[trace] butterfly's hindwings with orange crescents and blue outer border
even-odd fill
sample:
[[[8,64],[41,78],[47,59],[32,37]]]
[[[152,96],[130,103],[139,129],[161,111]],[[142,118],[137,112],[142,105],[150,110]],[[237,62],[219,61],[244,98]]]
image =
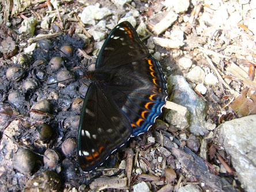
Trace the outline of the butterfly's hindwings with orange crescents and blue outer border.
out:
[[[132,136],[152,126],[168,96],[164,74],[151,55],[117,67],[105,89],[133,127]]]

